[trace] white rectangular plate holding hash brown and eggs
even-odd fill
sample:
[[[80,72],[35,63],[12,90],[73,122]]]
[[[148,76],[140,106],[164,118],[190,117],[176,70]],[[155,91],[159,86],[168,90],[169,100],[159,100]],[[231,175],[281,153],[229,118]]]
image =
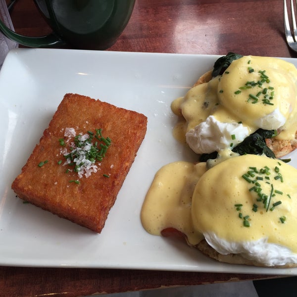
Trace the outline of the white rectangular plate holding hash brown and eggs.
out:
[[[172,137],[170,104],[218,56],[17,49],[0,71],[0,265],[297,275],[297,269],[229,265],[182,242],[149,235],[140,211],[155,172],[193,160]],[[287,59],[297,64],[295,59]],[[66,93],[148,116],[148,131],[101,234],[15,197],[10,186]],[[293,165],[297,158],[293,153]]]

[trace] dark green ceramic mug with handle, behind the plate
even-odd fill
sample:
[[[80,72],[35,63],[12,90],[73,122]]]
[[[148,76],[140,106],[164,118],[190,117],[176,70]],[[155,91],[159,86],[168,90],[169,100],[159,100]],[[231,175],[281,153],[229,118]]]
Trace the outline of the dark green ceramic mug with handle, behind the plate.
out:
[[[135,0],[34,0],[52,33],[43,37],[16,34],[0,21],[0,31],[32,48],[69,45],[76,49],[107,49],[125,29]]]

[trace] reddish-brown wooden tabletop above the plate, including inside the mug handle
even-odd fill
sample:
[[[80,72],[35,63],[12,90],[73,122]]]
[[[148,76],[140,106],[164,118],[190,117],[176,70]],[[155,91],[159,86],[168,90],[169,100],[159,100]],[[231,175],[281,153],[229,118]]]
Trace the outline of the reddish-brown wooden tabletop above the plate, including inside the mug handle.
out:
[[[20,34],[51,31],[32,0],[18,0],[11,17]],[[137,0],[109,50],[295,57],[283,27],[280,0]]]

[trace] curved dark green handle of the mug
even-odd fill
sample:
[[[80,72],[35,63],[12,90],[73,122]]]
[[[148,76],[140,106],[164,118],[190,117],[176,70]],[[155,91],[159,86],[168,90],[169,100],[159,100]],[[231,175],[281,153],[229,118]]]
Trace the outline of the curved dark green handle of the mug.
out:
[[[15,33],[5,26],[0,19],[0,31],[10,40],[26,47],[30,48],[52,48],[61,47],[65,45],[65,42],[60,39],[54,33],[50,33],[46,36],[41,37],[29,37]]]

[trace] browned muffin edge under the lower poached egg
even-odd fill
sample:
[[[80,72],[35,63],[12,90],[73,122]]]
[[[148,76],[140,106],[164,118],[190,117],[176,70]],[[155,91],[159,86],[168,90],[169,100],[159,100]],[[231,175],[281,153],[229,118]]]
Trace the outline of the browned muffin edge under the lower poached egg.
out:
[[[285,265],[278,265],[278,266],[265,266],[260,264],[256,261],[248,260],[241,256],[240,254],[227,254],[222,255],[218,253],[215,249],[210,247],[206,240],[202,240],[197,246],[195,246],[199,251],[201,251],[206,256],[215,259],[220,262],[229,263],[229,264],[244,264],[244,265],[253,265],[253,266],[260,266],[260,267],[270,267],[270,268],[293,268],[297,267],[296,263],[287,263]]]

